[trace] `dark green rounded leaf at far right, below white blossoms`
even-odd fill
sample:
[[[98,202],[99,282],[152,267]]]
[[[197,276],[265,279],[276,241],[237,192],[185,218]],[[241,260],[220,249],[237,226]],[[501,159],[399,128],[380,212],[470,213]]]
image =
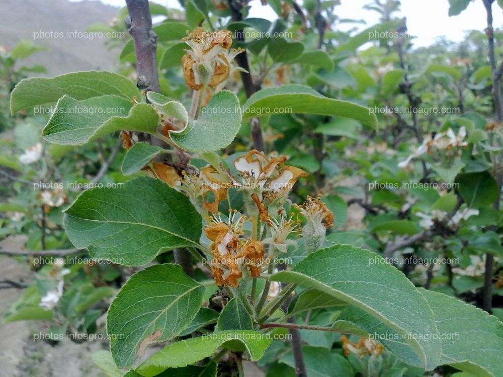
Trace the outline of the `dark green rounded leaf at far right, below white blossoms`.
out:
[[[488,206],[498,197],[498,185],[486,171],[458,174],[456,183],[459,195],[470,208]]]

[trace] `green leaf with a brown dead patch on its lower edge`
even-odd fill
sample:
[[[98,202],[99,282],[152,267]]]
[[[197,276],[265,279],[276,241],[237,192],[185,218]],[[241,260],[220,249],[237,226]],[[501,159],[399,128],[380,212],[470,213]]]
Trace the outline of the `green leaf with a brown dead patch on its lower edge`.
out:
[[[149,344],[177,336],[196,316],[203,293],[178,264],[156,264],[132,275],[107,314],[117,366],[130,366]]]

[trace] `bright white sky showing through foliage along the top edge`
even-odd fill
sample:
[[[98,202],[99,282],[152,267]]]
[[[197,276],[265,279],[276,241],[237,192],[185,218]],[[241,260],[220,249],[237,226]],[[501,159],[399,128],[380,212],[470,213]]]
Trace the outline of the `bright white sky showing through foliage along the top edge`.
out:
[[[71,0],[78,1],[78,0]],[[124,0],[100,0],[102,3],[122,7]],[[155,3],[171,8],[180,8],[178,0],[154,0]],[[300,1],[301,3],[301,1]],[[371,0],[342,0],[342,5],[336,7],[336,12],[341,18],[365,20],[366,26],[372,26],[378,22],[376,12],[365,11],[363,6],[371,3]],[[435,39],[445,35],[449,40],[460,41],[464,37],[465,30],[484,30],[485,9],[482,0],[474,0],[468,8],[459,16],[449,17],[448,0],[402,0],[400,16],[407,18],[408,34],[417,37],[414,40],[416,47],[429,46]],[[262,17],[274,20],[275,13],[269,6],[262,6],[260,0],[252,0],[250,3],[250,17]],[[492,6],[494,27],[503,24],[503,10],[496,3]],[[340,26],[340,30],[348,30],[356,24]]]

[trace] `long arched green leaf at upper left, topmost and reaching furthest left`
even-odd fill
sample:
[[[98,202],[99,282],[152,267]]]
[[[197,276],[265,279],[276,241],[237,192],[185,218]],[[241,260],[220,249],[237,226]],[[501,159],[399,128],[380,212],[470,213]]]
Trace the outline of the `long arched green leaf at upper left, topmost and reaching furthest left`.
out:
[[[52,78],[30,77],[21,80],[12,91],[11,113],[54,103],[64,95],[75,100],[112,95],[131,101],[140,93],[128,78],[106,71],[73,72]]]

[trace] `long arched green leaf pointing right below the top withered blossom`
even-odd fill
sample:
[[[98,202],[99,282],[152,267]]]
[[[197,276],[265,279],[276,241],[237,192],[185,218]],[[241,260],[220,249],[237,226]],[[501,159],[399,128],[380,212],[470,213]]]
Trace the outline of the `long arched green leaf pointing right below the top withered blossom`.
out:
[[[308,86],[296,84],[262,89],[255,93],[244,104],[243,121],[285,113],[340,116],[377,129],[377,118],[369,109],[351,102],[323,97]]]

